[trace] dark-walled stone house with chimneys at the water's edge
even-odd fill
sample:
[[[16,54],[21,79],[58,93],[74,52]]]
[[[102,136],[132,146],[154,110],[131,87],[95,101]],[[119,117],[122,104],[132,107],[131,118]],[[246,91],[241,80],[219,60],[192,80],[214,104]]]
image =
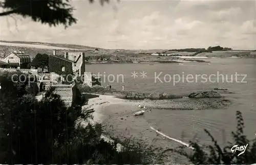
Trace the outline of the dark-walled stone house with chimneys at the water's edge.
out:
[[[94,85],[101,85],[99,77],[94,77],[92,72],[86,72],[86,59],[84,52],[61,53],[64,57],[59,56],[60,52],[57,53],[58,56],[56,55],[56,50],[53,50],[53,54],[48,55],[48,73],[38,73],[38,79],[41,79],[42,82],[44,81],[45,85],[56,83],[59,81],[56,80],[58,78],[61,78],[62,82],[68,80],[68,84],[72,82],[71,78],[77,78],[77,80],[80,79],[83,84],[87,84],[90,87]]]

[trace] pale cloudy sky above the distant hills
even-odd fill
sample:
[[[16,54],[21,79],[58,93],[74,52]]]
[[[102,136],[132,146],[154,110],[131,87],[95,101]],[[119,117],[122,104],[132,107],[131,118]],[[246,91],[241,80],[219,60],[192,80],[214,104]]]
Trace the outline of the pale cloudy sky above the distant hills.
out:
[[[0,40],[109,49],[256,49],[256,0],[110,1],[101,6],[73,0],[78,22],[66,30],[30,18],[0,17]]]

